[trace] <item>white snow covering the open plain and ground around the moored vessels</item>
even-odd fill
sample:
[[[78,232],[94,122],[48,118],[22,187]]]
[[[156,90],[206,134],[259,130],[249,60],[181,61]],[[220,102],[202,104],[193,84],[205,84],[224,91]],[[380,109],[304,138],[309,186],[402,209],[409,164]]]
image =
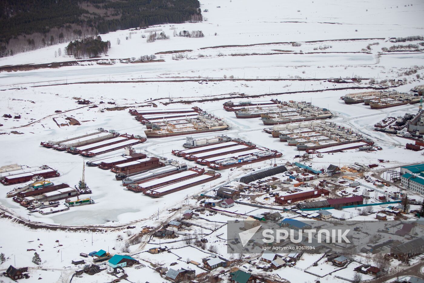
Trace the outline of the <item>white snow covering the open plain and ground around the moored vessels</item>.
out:
[[[382,47],[419,43],[393,43],[389,39],[423,35],[424,3],[422,1],[412,0],[410,3],[400,4],[394,0],[355,3],[311,0],[290,3],[271,0],[258,5],[257,1],[253,0],[232,0],[231,2],[206,0],[201,1],[201,8],[202,11],[209,10],[203,13],[207,21],[205,19],[201,23],[155,26],[131,34],[131,39],[128,40],[125,40],[129,34],[128,30],[101,35],[103,40],[111,41],[112,48],[107,55],[100,59],[137,58],[141,55],[163,51],[189,50],[184,52],[187,58],[173,60],[173,54],[157,54],[157,59],[163,59],[164,62],[124,63],[118,61],[106,65],[96,63],[91,65],[81,62],[74,66],[55,69],[1,72],[0,115],[11,114],[12,117],[21,115],[22,118],[0,118],[0,124],[3,124],[0,126],[0,133],[2,133],[0,135],[2,145],[0,147],[0,156],[2,157],[0,165],[18,163],[37,167],[47,164],[61,173],[60,177],[52,178],[51,181],[55,184],[66,183],[73,187],[81,178],[82,163],[90,158],[43,148],[39,145],[40,142],[98,127],[144,136],[145,126],[128,113],[128,108],[123,110],[107,110],[106,108],[115,106],[134,108],[134,106],[145,105],[148,102],[156,103],[158,108],[148,106],[142,109],[198,106],[225,119],[232,126],[230,130],[217,134],[226,134],[251,141],[257,146],[278,150],[283,153],[283,156],[275,161],[277,164],[294,161],[294,156],[298,154],[295,147],[289,147],[286,143],[279,142],[279,139],[273,139],[269,134],[264,133],[262,130],[267,126],[263,125],[260,119],[236,119],[234,113],[223,110],[223,102],[231,97],[243,95],[261,96],[254,98],[261,101],[272,98],[285,101],[304,100],[319,107],[329,108],[336,114],[331,119],[332,122],[351,127],[373,139],[383,148],[381,151],[374,152],[348,150],[345,153],[323,154],[323,158],[314,158],[310,161],[314,168],[321,169],[329,164],[343,166],[354,162],[372,164],[378,163],[378,159],[389,161],[380,165],[394,168],[423,160],[420,152],[404,149],[405,144],[410,140],[373,130],[373,125],[385,117],[404,115],[407,112],[416,113],[418,105],[372,110],[362,104],[346,105],[340,100],[340,96],[361,90],[329,90],[352,86],[370,87],[368,79],[376,79],[377,82],[385,79],[402,79],[404,81],[406,79],[407,84],[391,88],[398,91],[409,91],[416,85],[422,85],[421,77],[424,74],[422,52],[381,54]],[[175,27],[177,32],[202,30],[205,37],[173,37],[174,29],[170,29],[171,27]],[[170,39],[147,43],[145,39],[141,38],[141,34],[147,34],[145,31],[152,28],[162,29],[170,35]],[[121,40],[120,45],[117,45],[117,38]],[[339,41],[340,39],[361,40]],[[317,40],[322,41],[311,42]],[[300,42],[301,45],[293,46],[290,42]],[[361,52],[361,49],[374,42],[377,42],[378,45],[370,45],[371,50]],[[225,46],[208,48],[220,45]],[[324,49],[324,45],[329,46]],[[323,48],[322,50],[319,49],[320,46]],[[64,47],[64,44],[53,45],[13,57],[0,58],[0,65],[73,60],[67,56],[56,58],[53,56],[57,48]],[[416,73],[405,73],[411,69],[415,69]],[[417,77],[417,74],[420,75],[420,78]],[[360,83],[349,84],[335,84],[326,80],[352,76],[364,79]],[[208,79],[209,81],[207,81]],[[374,86],[378,86],[378,84]],[[89,99],[99,107],[89,108],[90,105],[78,105],[75,103],[75,98]],[[211,98],[225,99],[205,101]],[[232,100],[254,99],[235,98]],[[105,104],[100,104],[101,101]],[[116,105],[106,104],[106,102],[112,101]],[[187,101],[193,103],[187,104]],[[165,106],[162,103],[171,104]],[[61,110],[62,113],[55,113],[55,110]],[[58,127],[53,121],[53,118],[61,117],[63,119],[67,116],[77,119],[81,125]],[[213,134],[203,133],[193,136],[205,137],[213,136]],[[171,151],[181,149],[184,140],[185,136],[148,139],[147,142],[138,144],[134,148],[137,152],[145,152],[148,155],[155,154],[183,161],[183,158],[173,156]],[[97,160],[122,153],[123,150],[117,150],[91,159]],[[199,166],[193,161],[184,160],[184,162],[187,162],[189,166]],[[72,273],[78,268],[71,266],[70,261],[78,258],[80,252],[88,253],[92,250],[108,249],[112,253],[121,253],[124,241],[131,238],[126,233],[126,227],[135,226],[136,228],[131,229],[134,230],[134,233],[140,232],[144,226],[160,227],[162,223],[180,217],[180,207],[183,209],[197,207],[198,203],[191,198],[192,195],[207,192],[218,184],[268,166],[270,166],[270,161],[262,161],[253,164],[252,167],[222,170],[220,172],[222,177],[217,180],[174,192],[162,198],[150,198],[124,190],[120,181],[114,180],[114,173],[95,167],[86,167],[86,182],[93,192],[90,197],[96,203],[71,207],[68,211],[51,215],[29,213],[11,198],[6,198],[6,193],[14,186],[1,185],[1,209],[7,210],[16,217],[28,219],[33,223],[41,222],[50,225],[103,226],[105,231],[109,232],[94,232],[93,243],[90,243],[92,235],[89,231],[65,232],[30,229],[2,218],[0,227],[8,232],[0,233],[0,243],[2,243],[0,252],[5,253],[7,260],[0,265],[0,270],[7,269],[10,264],[15,265],[16,260],[16,266],[32,268],[31,279],[27,280],[28,282],[38,282],[39,277],[47,280],[46,282],[61,282],[63,277],[64,282],[69,282]],[[392,192],[396,188],[387,187],[385,190]],[[351,192],[351,190],[348,191]],[[371,197],[373,196],[371,195]],[[419,199],[421,196],[414,195],[414,197]],[[266,202],[264,201],[264,203]],[[239,204],[226,210],[252,215],[272,211]],[[338,216],[345,213],[346,217],[353,220],[375,218],[375,215],[361,216],[356,209],[347,209],[344,212],[333,210],[332,212],[340,214]],[[218,213],[201,216],[207,220],[198,219],[195,220],[195,223],[204,227],[202,232],[206,234],[205,238],[209,241],[208,246],[215,245],[218,254],[229,258],[226,241],[223,240],[226,239],[225,222],[236,219],[237,215]],[[119,227],[111,228],[113,226]],[[189,233],[201,233],[201,229],[196,226]],[[118,241],[118,235],[121,235],[124,241]],[[56,240],[59,240],[59,243],[56,243]],[[177,242],[170,243],[171,241]],[[157,246],[159,243],[157,238],[150,239],[147,244],[140,243],[129,247],[131,254],[134,254],[134,257],[146,265],[143,269],[126,269],[130,280],[143,276],[143,280],[149,282],[162,282],[164,279],[151,266],[147,266],[151,262],[162,263],[168,268],[170,263],[178,262],[176,268],[181,268],[187,267],[187,263],[185,263],[187,258],[201,262],[202,258],[209,255],[206,250],[201,252],[193,247],[182,247],[187,244],[182,241],[181,236],[176,240],[164,240],[162,243],[164,242],[167,242],[166,245],[172,251],[166,256],[163,254],[151,255],[145,252],[146,249]],[[43,245],[40,245],[41,243]],[[59,244],[63,246],[59,246]],[[31,263],[34,251],[27,251],[27,249],[35,249],[40,254],[42,269]],[[298,261],[297,266],[302,269],[307,268],[316,260],[315,258],[316,255],[305,255],[302,260]],[[333,275],[352,278],[355,264],[351,263],[352,267],[335,272]],[[196,273],[202,272],[193,264],[190,264],[189,267],[196,268]],[[321,275],[331,272],[334,268],[328,263],[320,262],[318,266],[308,270]],[[278,274],[290,282],[313,282],[317,279],[316,276],[294,268],[289,271],[287,268],[279,269],[273,274]],[[110,280],[108,276],[106,272],[102,272],[99,276],[84,275],[82,278],[74,278],[74,280],[105,282]],[[368,277],[363,277],[363,279],[368,279]],[[0,280],[4,280],[4,278],[2,277]],[[320,280],[344,282],[335,277],[325,277]],[[6,280],[6,282],[8,281]],[[132,280],[132,282],[137,282],[137,280]]]

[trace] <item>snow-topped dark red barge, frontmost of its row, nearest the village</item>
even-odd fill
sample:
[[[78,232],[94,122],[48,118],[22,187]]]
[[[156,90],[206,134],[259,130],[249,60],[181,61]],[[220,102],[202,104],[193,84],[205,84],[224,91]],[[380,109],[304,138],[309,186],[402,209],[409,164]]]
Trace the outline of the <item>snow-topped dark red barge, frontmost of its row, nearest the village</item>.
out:
[[[179,181],[173,184],[169,184],[163,187],[158,187],[153,190],[145,190],[143,194],[149,195],[151,197],[159,198],[164,195],[168,195],[173,192],[178,192],[190,187],[194,187],[200,184],[204,184],[206,182],[210,182],[212,180],[220,178],[220,173],[215,173],[215,171],[209,170],[207,173],[203,175],[195,176],[194,178],[189,178],[184,181]]]

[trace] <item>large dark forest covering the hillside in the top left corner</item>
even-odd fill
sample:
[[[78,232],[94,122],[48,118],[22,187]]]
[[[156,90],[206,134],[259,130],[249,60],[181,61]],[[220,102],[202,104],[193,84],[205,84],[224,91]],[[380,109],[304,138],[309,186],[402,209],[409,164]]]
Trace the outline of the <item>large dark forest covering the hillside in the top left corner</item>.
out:
[[[3,0],[0,57],[118,29],[201,20],[198,0]]]

